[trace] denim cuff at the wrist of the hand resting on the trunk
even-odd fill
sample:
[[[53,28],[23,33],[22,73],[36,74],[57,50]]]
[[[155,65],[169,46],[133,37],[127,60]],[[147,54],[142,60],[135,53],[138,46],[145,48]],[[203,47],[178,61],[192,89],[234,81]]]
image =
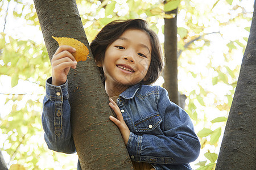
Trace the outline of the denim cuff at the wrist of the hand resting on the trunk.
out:
[[[130,136],[127,142],[127,150],[129,152],[131,160],[139,161],[142,147],[142,136],[130,132]]]

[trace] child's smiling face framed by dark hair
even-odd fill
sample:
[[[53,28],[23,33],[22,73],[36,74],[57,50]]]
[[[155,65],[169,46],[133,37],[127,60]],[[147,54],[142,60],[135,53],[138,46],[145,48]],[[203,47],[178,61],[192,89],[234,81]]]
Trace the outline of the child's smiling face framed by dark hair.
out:
[[[139,29],[127,29],[108,46],[102,66],[105,84],[131,86],[143,80],[151,61],[148,35]]]

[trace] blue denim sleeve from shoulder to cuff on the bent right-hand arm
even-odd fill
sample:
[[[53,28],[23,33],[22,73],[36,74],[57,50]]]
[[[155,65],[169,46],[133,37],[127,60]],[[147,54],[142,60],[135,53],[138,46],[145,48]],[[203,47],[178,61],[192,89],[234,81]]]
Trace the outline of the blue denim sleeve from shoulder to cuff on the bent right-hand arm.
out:
[[[156,107],[163,121],[162,134],[130,133],[127,150],[137,162],[156,164],[186,164],[197,159],[200,141],[188,114],[168,99],[167,91],[159,87]]]

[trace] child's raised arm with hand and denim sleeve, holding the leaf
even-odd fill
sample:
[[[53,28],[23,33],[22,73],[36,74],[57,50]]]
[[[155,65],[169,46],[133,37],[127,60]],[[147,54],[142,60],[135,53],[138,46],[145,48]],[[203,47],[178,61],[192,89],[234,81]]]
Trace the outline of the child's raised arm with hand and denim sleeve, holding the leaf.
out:
[[[52,78],[46,82],[42,124],[49,149],[71,154],[76,151],[71,131],[67,74],[75,69],[75,52],[71,46],[60,46],[52,57]]]

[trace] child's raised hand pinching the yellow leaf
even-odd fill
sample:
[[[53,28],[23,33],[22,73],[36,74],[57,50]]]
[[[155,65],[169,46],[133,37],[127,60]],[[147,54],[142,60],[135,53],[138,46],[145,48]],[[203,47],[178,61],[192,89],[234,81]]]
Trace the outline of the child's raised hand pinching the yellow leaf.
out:
[[[72,53],[76,49],[72,46],[61,45],[52,57],[52,85],[60,86],[67,80],[70,67],[76,69],[76,59]]]

